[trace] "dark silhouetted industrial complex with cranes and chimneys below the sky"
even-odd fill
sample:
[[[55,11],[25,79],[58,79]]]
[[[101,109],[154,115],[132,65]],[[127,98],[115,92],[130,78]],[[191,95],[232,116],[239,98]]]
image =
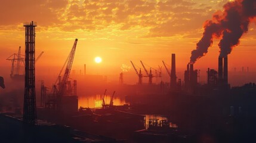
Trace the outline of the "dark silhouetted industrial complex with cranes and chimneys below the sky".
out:
[[[44,80],[35,85],[35,63],[43,53],[35,59],[36,26],[34,21],[24,23],[25,54],[19,48],[18,54],[7,58],[11,61],[11,79],[24,82],[24,99],[23,111],[21,107],[0,107],[1,142],[256,141],[255,83],[230,87],[227,55],[216,58],[218,70],[208,68],[205,84],[198,82],[200,70],[193,63],[186,65],[184,77],[177,77],[175,54],[171,54],[171,69],[162,61],[169,77],[167,83],[153,83],[153,78],[164,74],[161,66],[147,69],[140,61],[143,72],[131,61],[137,83],[125,84],[124,73],[120,73],[119,85],[103,86],[106,89],[100,92],[104,94],[95,103],[99,105],[89,107],[88,101],[87,106],[79,106],[79,82],[70,78],[78,39],[53,86],[46,86],[51,83]],[[84,64],[79,81],[106,82],[104,77],[87,75],[86,68]],[[3,77],[0,86],[4,90]],[[36,86],[40,95],[36,95]],[[90,93],[93,90],[87,89]],[[108,101],[107,92],[111,93]],[[116,96],[124,98],[125,104],[116,105]]]

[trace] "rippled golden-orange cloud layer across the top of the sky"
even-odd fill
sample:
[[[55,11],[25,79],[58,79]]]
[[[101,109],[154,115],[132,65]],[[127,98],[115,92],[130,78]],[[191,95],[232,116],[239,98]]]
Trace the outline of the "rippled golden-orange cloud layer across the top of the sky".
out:
[[[5,13],[0,13],[0,26],[34,20],[44,30],[57,27],[75,32],[109,26],[119,30],[146,27],[149,32],[145,37],[173,36],[201,29],[202,22],[212,14],[210,6],[184,0],[3,0],[0,9]]]

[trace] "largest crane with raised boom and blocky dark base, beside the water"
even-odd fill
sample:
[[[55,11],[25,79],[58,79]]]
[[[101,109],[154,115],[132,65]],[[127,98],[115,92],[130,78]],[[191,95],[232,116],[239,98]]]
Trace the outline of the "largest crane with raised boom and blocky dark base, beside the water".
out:
[[[73,85],[69,80],[70,71],[72,70],[72,64],[75,57],[76,44],[78,39],[75,39],[73,47],[67,57],[60,73],[58,74],[57,80],[51,89],[51,92],[47,94],[45,100],[45,108],[60,111],[61,113],[73,113],[78,108],[78,97],[77,97],[77,81],[73,80]],[[64,67],[66,66],[66,69]],[[63,77],[61,73],[64,70]],[[41,88],[41,90],[44,88]],[[44,91],[41,91],[44,93]]]

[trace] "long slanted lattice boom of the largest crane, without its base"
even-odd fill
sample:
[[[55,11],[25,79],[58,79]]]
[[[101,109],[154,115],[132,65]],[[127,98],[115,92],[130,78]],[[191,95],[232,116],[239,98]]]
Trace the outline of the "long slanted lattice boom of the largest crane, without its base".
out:
[[[69,79],[69,74],[70,74],[70,71],[71,71],[71,68],[72,68],[72,64],[73,64],[73,60],[74,60],[74,57],[75,57],[76,43],[77,42],[78,42],[78,39],[75,39],[74,45],[73,45],[73,47],[72,47],[72,49],[70,51],[70,54],[67,57],[67,60],[66,60],[66,62],[64,64],[64,66],[65,66],[66,63],[67,63],[66,69],[64,71],[63,78],[60,79],[59,80],[60,82],[58,83],[59,84],[58,92],[57,92],[57,103],[58,104],[60,104],[61,97],[63,97],[63,95],[64,95],[64,93],[66,91],[67,80]],[[61,71],[62,70],[63,69],[61,69]],[[61,74],[61,71],[60,71],[60,74]],[[59,74],[58,78],[60,77],[60,74]]]

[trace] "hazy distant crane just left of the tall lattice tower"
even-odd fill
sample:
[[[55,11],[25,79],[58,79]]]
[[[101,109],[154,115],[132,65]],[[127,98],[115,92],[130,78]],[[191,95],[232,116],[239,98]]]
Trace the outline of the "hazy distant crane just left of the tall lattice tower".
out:
[[[11,55],[6,60],[11,61],[11,79],[14,80],[24,80],[24,72],[22,72],[21,66],[24,66],[24,55],[20,54],[21,46],[18,47],[18,53]],[[22,57],[21,57],[22,56]],[[16,63],[16,65],[15,65]]]

